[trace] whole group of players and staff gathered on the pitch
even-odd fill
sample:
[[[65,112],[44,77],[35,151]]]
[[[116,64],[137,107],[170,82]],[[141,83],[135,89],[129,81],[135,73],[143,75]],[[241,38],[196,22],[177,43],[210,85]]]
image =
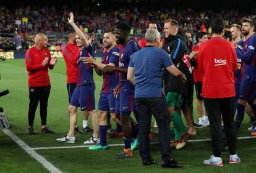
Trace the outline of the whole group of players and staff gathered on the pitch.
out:
[[[89,150],[108,149],[110,115],[116,122],[116,132],[122,132],[124,141],[124,150],[114,158],[132,157],[132,150],[140,142],[143,165],[155,164],[149,151],[153,114],[159,128],[155,134],[159,135],[161,166],[182,167],[171,158],[169,148],[183,148],[190,135],[196,134],[195,127],[204,126],[210,126],[213,145],[213,156],[203,161],[204,164],[223,166],[220,158],[223,147],[230,151],[229,163],[241,162],[236,153],[236,134],[244,119],[244,111],[250,116],[251,135],[256,135],[256,38],[252,20],[243,18],[242,26],[234,24],[230,31],[224,30],[223,20],[214,20],[212,38],[208,40],[207,33],[199,31],[195,47],[189,46],[189,31],[178,33],[179,23],[176,20],[164,22],[164,41],[156,23],[151,22],[145,38],[139,43],[130,39],[131,26],[119,21],[114,31],[104,33],[103,55],[98,62],[87,34],[75,25],[73,13],[69,15],[68,22],[72,28],[68,30],[69,43],[62,54],[67,66],[70,126],[68,134],[56,139],[58,142],[75,143],[77,108],[80,107],[82,131],[93,132],[92,137],[84,142],[92,145]],[[41,132],[53,133],[46,126],[51,88],[48,68],[52,70],[57,60],[51,58],[47,42],[45,34],[37,34],[35,46],[25,55],[30,92],[27,134],[30,135],[33,134],[39,101]],[[221,46],[225,47],[223,51]],[[98,113],[95,109],[93,70],[103,76]],[[198,123],[193,118],[194,86]],[[181,111],[188,128],[184,125]],[[132,112],[135,119],[130,117]],[[87,124],[89,115],[93,129]],[[171,121],[175,137],[170,142]],[[224,146],[221,145],[221,121],[224,124]]]

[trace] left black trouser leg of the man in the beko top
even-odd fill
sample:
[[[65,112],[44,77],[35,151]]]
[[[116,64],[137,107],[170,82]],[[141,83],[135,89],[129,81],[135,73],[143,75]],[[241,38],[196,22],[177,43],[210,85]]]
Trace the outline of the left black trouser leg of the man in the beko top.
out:
[[[221,156],[221,104],[219,99],[205,99],[208,118],[210,121],[211,145],[213,155]]]

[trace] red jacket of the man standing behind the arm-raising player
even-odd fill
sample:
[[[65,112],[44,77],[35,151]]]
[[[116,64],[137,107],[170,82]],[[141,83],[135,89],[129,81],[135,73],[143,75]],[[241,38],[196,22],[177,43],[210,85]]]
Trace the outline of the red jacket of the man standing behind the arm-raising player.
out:
[[[77,52],[79,52],[79,47],[71,43],[67,44],[62,50],[62,55],[66,62],[67,84],[77,82]]]

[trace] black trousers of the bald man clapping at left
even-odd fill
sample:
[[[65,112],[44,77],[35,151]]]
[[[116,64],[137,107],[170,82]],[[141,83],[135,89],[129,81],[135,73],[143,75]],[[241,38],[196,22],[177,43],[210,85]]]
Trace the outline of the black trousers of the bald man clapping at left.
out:
[[[41,87],[29,87],[29,109],[28,109],[28,124],[33,126],[35,119],[35,111],[40,101],[40,117],[41,125],[46,125],[47,118],[47,106],[48,98],[51,90],[51,86],[41,86]]]

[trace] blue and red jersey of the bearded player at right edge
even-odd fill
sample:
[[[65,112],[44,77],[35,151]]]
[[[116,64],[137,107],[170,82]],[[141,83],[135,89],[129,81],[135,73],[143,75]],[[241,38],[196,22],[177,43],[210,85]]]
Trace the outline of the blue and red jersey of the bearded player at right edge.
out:
[[[244,41],[242,49],[242,80],[256,81],[256,36]]]

